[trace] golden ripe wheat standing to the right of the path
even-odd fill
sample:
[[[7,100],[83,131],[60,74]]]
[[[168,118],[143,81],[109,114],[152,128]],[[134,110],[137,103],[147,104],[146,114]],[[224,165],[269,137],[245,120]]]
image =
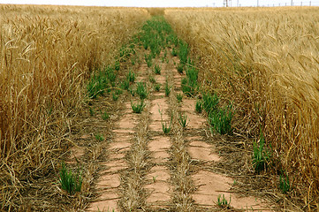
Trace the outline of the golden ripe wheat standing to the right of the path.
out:
[[[279,162],[277,169],[294,179],[308,207],[319,202],[318,11],[165,11],[199,58],[203,84],[235,103],[237,131],[258,136],[262,130]]]

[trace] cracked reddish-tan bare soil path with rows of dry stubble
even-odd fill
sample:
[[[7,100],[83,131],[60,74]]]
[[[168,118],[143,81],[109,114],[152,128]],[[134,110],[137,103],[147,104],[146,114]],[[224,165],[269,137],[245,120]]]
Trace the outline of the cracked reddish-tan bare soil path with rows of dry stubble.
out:
[[[211,169],[223,163],[223,157],[216,153],[215,138],[205,117],[194,110],[195,99],[183,95],[183,101],[177,101],[176,95],[183,94],[180,82],[184,77],[174,66],[178,58],[169,57],[169,63],[159,59],[155,62],[162,68],[161,75],[155,75],[147,64],[134,70],[137,81],[146,82],[148,87],[141,114],[133,113],[131,97],[126,94],[114,108],[118,117],[111,117],[104,126],[109,127],[107,139],[90,149],[72,148],[72,155],[77,158],[99,153],[95,154],[98,159],[92,161],[97,172],[91,181],[97,197],[86,210],[271,211],[266,201],[232,193],[234,179]],[[149,76],[161,84],[159,92],[148,81]],[[171,87],[169,96],[163,89],[166,81]],[[178,124],[178,114],[186,114],[186,128]],[[170,133],[163,133],[162,123],[171,123]],[[103,123],[91,125],[99,125],[103,131]],[[81,139],[85,142],[90,136],[83,134]],[[231,197],[232,208],[217,206],[220,194],[226,200]]]

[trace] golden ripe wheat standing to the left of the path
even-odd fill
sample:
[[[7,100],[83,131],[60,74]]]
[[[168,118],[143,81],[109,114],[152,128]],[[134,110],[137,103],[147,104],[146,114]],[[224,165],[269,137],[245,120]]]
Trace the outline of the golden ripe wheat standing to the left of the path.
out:
[[[0,5],[0,208],[15,208],[70,141],[85,81],[112,64],[144,9]],[[84,88],[83,88],[84,87]]]

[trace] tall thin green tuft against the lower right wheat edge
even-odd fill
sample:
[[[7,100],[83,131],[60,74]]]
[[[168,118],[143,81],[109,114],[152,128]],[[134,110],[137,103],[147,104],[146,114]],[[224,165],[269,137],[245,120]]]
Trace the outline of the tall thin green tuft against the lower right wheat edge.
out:
[[[259,145],[254,142],[253,166],[257,173],[266,170],[270,163],[270,152],[265,148],[265,138],[260,133]]]

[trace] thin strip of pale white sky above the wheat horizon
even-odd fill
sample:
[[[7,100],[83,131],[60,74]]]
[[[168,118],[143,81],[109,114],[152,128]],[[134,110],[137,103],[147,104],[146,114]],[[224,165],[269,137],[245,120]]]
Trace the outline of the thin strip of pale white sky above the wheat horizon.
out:
[[[138,7],[220,7],[224,0],[0,0],[0,4],[60,4],[85,6],[138,6]],[[281,6],[284,5],[319,6],[319,0],[232,0],[232,6]]]

